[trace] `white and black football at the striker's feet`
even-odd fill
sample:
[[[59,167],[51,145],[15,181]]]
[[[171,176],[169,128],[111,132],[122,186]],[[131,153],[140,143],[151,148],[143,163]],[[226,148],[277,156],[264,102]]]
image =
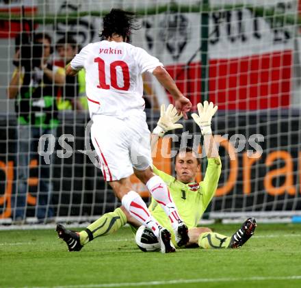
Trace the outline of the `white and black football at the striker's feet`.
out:
[[[145,226],[140,226],[135,235],[135,241],[137,246],[143,252],[154,252],[160,250],[160,244],[150,229],[146,228]]]

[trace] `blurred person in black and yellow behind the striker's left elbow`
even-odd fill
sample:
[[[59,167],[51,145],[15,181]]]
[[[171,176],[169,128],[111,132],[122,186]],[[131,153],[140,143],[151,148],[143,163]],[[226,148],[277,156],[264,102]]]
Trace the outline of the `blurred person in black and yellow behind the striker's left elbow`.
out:
[[[74,38],[68,36],[57,41],[55,50],[60,58],[55,60],[54,64],[65,67],[78,53],[79,45]],[[85,77],[84,69],[77,74],[77,77],[66,76],[66,84],[57,99],[59,110],[88,109]]]

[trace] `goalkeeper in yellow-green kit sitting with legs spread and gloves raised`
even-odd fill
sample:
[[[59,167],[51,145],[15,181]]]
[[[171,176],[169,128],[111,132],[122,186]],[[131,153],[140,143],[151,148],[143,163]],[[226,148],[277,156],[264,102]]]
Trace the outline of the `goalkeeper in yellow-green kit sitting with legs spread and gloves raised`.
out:
[[[200,127],[204,137],[203,148],[208,160],[204,181],[200,183],[195,181],[196,173],[200,171],[200,159],[192,148],[181,149],[176,154],[176,177],[170,176],[153,166],[153,172],[159,175],[168,185],[170,195],[176,204],[181,219],[189,229],[189,242],[185,245],[186,247],[199,246],[205,249],[239,248],[253,235],[257,226],[254,218],[248,218],[231,237],[213,233],[209,228],[197,227],[198,221],[218,187],[222,168],[218,147],[215,144],[211,131],[211,118],[217,109],[218,107],[214,107],[213,103],[209,104],[205,101],[204,105],[198,103],[198,114],[192,114],[192,118]],[[176,124],[180,118],[181,115],[177,114],[176,109],[172,105],[169,105],[166,111],[165,107],[161,106],[161,116],[152,135],[152,148],[157,143],[158,137],[162,137],[167,131],[183,127],[181,124]],[[172,234],[172,241],[176,245],[170,219],[153,198],[149,210],[160,225],[168,228]],[[133,219],[125,208],[119,207],[114,212],[104,214],[79,233],[70,231],[62,226],[66,235],[64,241],[68,245],[69,251],[79,251],[94,238],[109,235],[126,223],[131,224],[135,228],[140,226],[140,223]]]

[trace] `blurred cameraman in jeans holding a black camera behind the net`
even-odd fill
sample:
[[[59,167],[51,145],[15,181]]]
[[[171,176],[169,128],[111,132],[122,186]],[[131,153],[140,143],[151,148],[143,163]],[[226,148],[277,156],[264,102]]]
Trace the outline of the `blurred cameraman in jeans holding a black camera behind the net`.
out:
[[[23,224],[26,220],[27,180],[31,157],[39,159],[36,217],[39,222],[48,222],[53,217],[51,162],[50,165],[44,163],[44,159],[38,156],[34,147],[37,147],[41,135],[56,134],[59,124],[56,95],[59,86],[65,82],[64,69],[48,63],[53,50],[51,37],[48,34],[35,34],[33,45],[25,44],[21,38],[24,37],[16,39],[16,69],[8,87],[8,98],[16,98],[18,118],[16,191],[12,203],[12,207],[15,208],[13,221],[18,224]],[[32,51],[32,57],[28,58],[29,51]]]

